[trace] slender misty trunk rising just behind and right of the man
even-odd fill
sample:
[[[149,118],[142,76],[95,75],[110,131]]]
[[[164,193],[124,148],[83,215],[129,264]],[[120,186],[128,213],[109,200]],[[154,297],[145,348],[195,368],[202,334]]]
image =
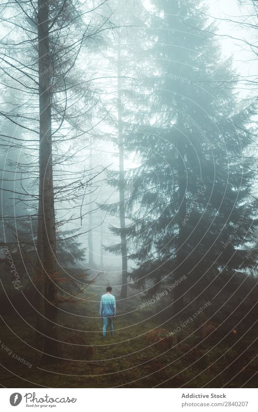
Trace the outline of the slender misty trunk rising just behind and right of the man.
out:
[[[124,212],[124,165],[123,165],[123,130],[122,130],[122,102],[121,102],[121,42],[118,38],[118,138],[119,138],[119,204],[120,204],[120,228],[121,228],[121,255],[122,255],[122,286],[121,295],[123,299],[127,297],[127,244],[125,232],[125,212]]]

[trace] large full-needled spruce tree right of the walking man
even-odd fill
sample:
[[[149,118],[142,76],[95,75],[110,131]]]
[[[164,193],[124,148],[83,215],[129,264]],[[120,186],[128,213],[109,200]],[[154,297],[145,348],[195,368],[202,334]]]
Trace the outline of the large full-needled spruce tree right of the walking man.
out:
[[[251,109],[225,86],[233,72],[203,3],[152,5],[145,53],[152,74],[142,80],[151,108],[127,141],[141,160],[127,238],[138,264],[133,278],[147,296],[186,277],[173,289],[181,316],[186,296],[206,299],[234,269],[254,264],[244,250],[255,230],[245,156]]]

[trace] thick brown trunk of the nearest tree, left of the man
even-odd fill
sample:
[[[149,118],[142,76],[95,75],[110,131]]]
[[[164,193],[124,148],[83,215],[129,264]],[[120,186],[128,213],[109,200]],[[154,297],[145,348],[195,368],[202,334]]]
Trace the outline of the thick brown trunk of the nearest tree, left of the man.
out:
[[[45,338],[44,360],[59,356],[57,342],[56,228],[53,191],[51,130],[51,59],[49,54],[49,11],[45,0],[38,0],[38,57],[40,149],[39,178],[42,200],[43,265],[45,272]]]

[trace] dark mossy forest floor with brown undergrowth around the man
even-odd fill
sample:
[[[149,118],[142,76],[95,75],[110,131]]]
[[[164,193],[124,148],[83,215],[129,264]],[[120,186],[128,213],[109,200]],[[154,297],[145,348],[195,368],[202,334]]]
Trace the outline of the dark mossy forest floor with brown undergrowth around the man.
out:
[[[34,349],[34,316],[24,308],[23,312],[14,311],[11,306],[8,309],[6,303],[0,318],[0,385],[7,388],[257,387],[257,314],[252,310],[236,330],[230,318],[223,326],[207,322],[209,336],[203,337],[199,320],[185,326],[185,318],[164,323],[169,313],[167,316],[156,306],[160,303],[138,310],[141,302],[136,297],[125,302],[118,301],[115,334],[108,333],[106,339],[101,336],[102,319],[98,317],[97,302],[61,305],[62,327],[58,338],[67,343],[60,344],[60,359],[54,358],[48,364],[41,363],[41,353]],[[252,303],[249,302],[250,307]],[[166,338],[166,331],[177,327],[180,331]]]

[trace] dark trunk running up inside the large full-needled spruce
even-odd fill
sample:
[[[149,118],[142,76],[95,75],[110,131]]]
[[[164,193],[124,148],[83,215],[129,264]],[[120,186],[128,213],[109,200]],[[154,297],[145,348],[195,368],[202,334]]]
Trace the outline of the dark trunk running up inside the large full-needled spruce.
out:
[[[176,254],[176,270],[174,272],[174,280],[178,280],[182,275],[184,275],[183,271],[185,268],[184,260],[185,260],[185,227],[183,226],[183,220],[186,215],[186,170],[184,165],[184,156],[185,156],[185,141],[184,137],[181,133],[183,128],[182,122],[182,102],[178,103],[178,121],[177,121],[177,128],[178,128],[178,139],[177,139],[177,150],[178,150],[178,194],[179,194],[179,233],[178,233],[178,242],[177,242],[177,254]],[[174,303],[173,303],[173,312],[178,314],[178,316],[182,315],[180,313],[184,308],[184,291],[185,291],[185,284],[184,282],[179,283],[174,289]]]

